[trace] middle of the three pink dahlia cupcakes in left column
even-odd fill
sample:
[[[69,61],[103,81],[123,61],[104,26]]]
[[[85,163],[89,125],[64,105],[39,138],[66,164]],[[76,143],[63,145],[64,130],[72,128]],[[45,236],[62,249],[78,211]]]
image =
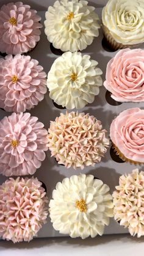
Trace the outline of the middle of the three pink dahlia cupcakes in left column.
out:
[[[24,112],[43,100],[46,73],[30,56],[8,55],[0,59],[0,86],[0,108]]]

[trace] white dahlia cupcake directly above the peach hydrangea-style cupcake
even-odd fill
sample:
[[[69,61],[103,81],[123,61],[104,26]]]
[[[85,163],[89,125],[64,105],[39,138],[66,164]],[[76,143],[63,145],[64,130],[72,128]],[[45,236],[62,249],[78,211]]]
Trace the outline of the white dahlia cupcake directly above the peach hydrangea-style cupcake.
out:
[[[103,85],[103,72],[98,62],[89,55],[63,53],[58,57],[48,73],[49,97],[67,109],[81,109],[95,100],[99,86]]]

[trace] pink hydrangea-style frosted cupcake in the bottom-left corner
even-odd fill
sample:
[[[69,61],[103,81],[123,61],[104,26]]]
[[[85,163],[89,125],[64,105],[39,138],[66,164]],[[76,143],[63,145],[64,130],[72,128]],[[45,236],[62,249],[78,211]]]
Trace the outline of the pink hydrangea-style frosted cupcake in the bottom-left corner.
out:
[[[31,241],[48,216],[48,197],[37,178],[9,178],[0,186],[0,237]]]

